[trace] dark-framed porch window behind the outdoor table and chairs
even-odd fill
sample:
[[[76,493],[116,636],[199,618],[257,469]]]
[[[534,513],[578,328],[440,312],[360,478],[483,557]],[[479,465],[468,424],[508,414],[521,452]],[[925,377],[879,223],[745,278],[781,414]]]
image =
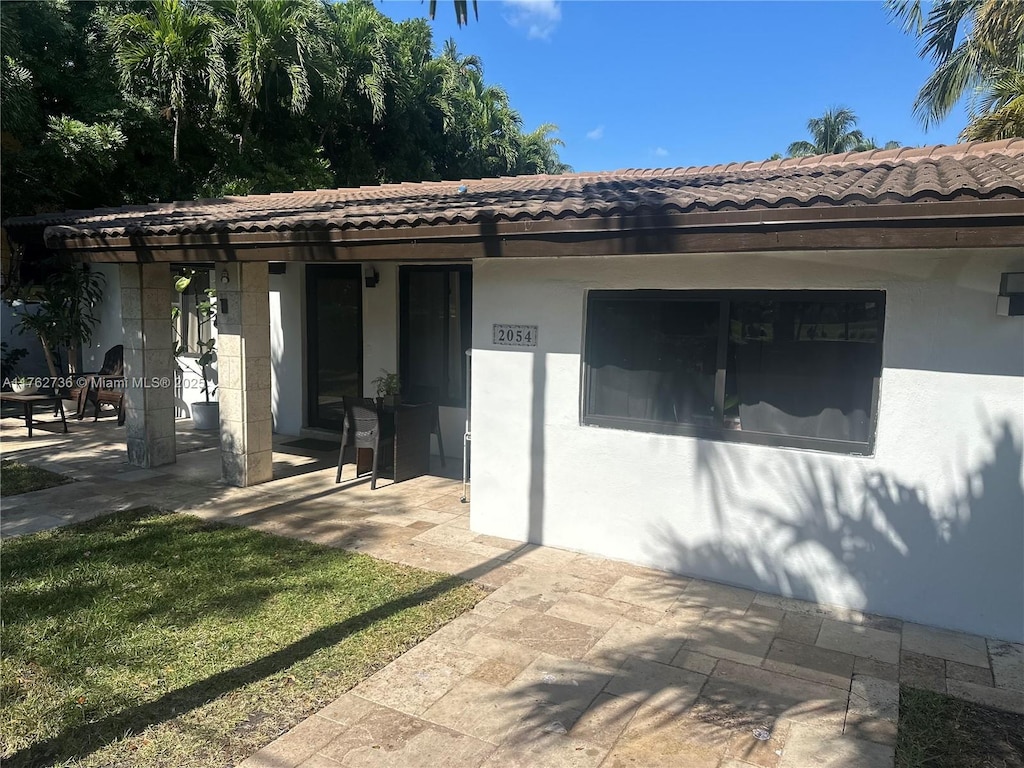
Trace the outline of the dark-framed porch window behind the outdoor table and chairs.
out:
[[[402,399],[466,406],[466,350],[473,323],[471,266],[399,268]]]

